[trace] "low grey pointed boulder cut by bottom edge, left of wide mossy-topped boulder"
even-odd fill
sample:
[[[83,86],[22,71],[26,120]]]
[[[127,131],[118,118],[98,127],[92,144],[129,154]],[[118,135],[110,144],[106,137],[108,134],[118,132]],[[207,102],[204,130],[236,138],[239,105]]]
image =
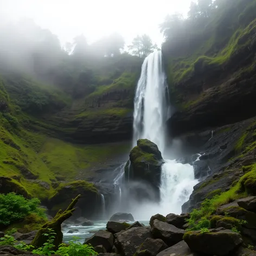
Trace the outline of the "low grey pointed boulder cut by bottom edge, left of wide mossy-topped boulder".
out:
[[[190,251],[188,245],[184,241],[178,242],[162,252],[158,253],[157,256],[199,256],[197,253]]]

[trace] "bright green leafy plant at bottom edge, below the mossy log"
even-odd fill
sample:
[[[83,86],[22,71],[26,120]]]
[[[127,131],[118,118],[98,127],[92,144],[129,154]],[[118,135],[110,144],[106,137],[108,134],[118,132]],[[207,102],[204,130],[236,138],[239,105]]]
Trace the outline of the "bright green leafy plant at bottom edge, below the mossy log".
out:
[[[93,256],[97,255],[94,248],[91,245],[83,245],[78,242],[78,237],[74,236],[73,240],[69,242],[69,245],[61,244],[56,254],[61,256]]]

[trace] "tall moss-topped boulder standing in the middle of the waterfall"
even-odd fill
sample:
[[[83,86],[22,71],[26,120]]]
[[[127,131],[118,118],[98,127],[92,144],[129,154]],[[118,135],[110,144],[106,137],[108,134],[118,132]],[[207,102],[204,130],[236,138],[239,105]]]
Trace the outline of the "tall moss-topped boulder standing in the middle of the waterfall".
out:
[[[138,181],[150,184],[159,196],[161,166],[164,163],[162,154],[155,143],[148,139],[139,139],[137,146],[130,152],[130,163],[125,168],[126,181]],[[134,191],[134,190],[133,190]],[[137,191],[146,196],[143,191]]]

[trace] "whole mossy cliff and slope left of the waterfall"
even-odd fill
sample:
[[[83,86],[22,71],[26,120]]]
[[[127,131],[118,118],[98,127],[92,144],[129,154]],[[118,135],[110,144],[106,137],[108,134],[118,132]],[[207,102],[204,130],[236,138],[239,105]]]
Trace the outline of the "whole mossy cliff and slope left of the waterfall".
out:
[[[115,61],[105,63],[108,70],[103,67],[93,92],[81,92],[80,98],[26,74],[1,71],[0,193],[39,197],[53,212],[80,193],[82,211],[91,204],[88,198],[95,203],[85,215],[97,211],[98,189],[85,180],[94,181],[99,175],[94,169],[107,169],[107,162],[130,150],[141,60],[125,55]],[[111,76],[116,65],[120,71]]]

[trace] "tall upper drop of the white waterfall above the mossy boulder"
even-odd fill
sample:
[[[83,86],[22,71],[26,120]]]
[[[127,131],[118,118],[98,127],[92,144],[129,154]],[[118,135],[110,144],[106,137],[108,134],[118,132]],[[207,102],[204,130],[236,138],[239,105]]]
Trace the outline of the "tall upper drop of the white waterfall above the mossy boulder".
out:
[[[162,67],[162,53],[150,54],[143,62],[133,112],[133,146],[140,138],[165,149],[165,121],[168,114],[167,84]]]

